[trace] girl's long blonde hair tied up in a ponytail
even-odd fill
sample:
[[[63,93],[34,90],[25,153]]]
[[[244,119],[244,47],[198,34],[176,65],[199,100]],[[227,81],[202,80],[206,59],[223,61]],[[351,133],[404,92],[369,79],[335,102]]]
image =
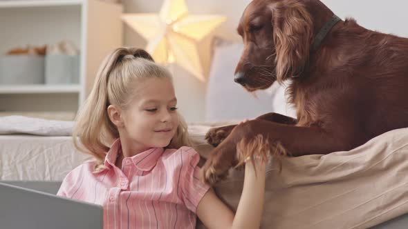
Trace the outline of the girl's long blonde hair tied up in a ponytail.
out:
[[[165,67],[154,63],[151,55],[142,49],[117,48],[102,62],[91,94],[75,118],[73,131],[75,148],[98,161],[95,170],[104,167],[109,146],[119,138],[118,128],[109,119],[108,106],[112,104],[127,109],[133,99],[135,79],[148,77],[171,79],[171,74]],[[178,120],[176,134],[167,147],[192,146],[187,124],[180,115]]]

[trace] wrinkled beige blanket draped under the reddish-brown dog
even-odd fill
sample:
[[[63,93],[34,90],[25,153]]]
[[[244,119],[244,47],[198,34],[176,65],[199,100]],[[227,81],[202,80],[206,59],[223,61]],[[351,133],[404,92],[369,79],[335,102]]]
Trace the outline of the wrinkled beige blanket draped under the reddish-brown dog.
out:
[[[201,147],[206,157],[210,148]],[[242,172],[231,170],[216,186],[232,208],[242,178]],[[347,152],[286,159],[281,173],[276,163],[268,166],[262,228],[369,228],[407,212],[408,128]]]

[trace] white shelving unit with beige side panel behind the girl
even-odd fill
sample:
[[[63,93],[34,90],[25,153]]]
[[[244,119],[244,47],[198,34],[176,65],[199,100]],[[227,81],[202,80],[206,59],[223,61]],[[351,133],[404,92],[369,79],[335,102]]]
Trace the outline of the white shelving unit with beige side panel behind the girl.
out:
[[[0,110],[75,114],[106,54],[122,46],[122,12],[122,4],[100,0],[0,0],[0,55],[60,41],[72,41],[80,51],[79,83],[0,84]]]

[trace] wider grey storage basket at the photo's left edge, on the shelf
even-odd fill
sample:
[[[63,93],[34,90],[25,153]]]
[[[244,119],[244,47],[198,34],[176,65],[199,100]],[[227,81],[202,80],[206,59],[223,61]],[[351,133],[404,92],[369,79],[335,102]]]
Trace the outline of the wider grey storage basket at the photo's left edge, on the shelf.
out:
[[[0,84],[43,84],[44,57],[8,55],[0,57]]]

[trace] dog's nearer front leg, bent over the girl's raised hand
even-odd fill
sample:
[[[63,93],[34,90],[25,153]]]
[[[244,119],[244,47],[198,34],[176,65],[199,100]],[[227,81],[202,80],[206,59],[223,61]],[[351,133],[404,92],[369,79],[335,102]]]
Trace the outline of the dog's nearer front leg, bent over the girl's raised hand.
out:
[[[338,130],[338,128],[337,131],[343,134],[346,132],[346,130]],[[271,147],[268,152],[279,154],[280,152],[275,152],[276,148],[279,148],[285,151],[281,154],[294,157],[312,154],[326,155],[355,147],[355,143],[350,141],[353,139],[353,135],[350,134],[350,138],[344,138],[348,135],[337,137],[336,133],[317,126],[302,127],[260,119],[248,121],[235,127],[231,134],[211,152],[209,159],[203,166],[203,180],[214,184],[227,175],[230,168],[237,165],[237,143],[242,139],[250,140],[257,135],[262,135],[264,139],[268,139]]]

